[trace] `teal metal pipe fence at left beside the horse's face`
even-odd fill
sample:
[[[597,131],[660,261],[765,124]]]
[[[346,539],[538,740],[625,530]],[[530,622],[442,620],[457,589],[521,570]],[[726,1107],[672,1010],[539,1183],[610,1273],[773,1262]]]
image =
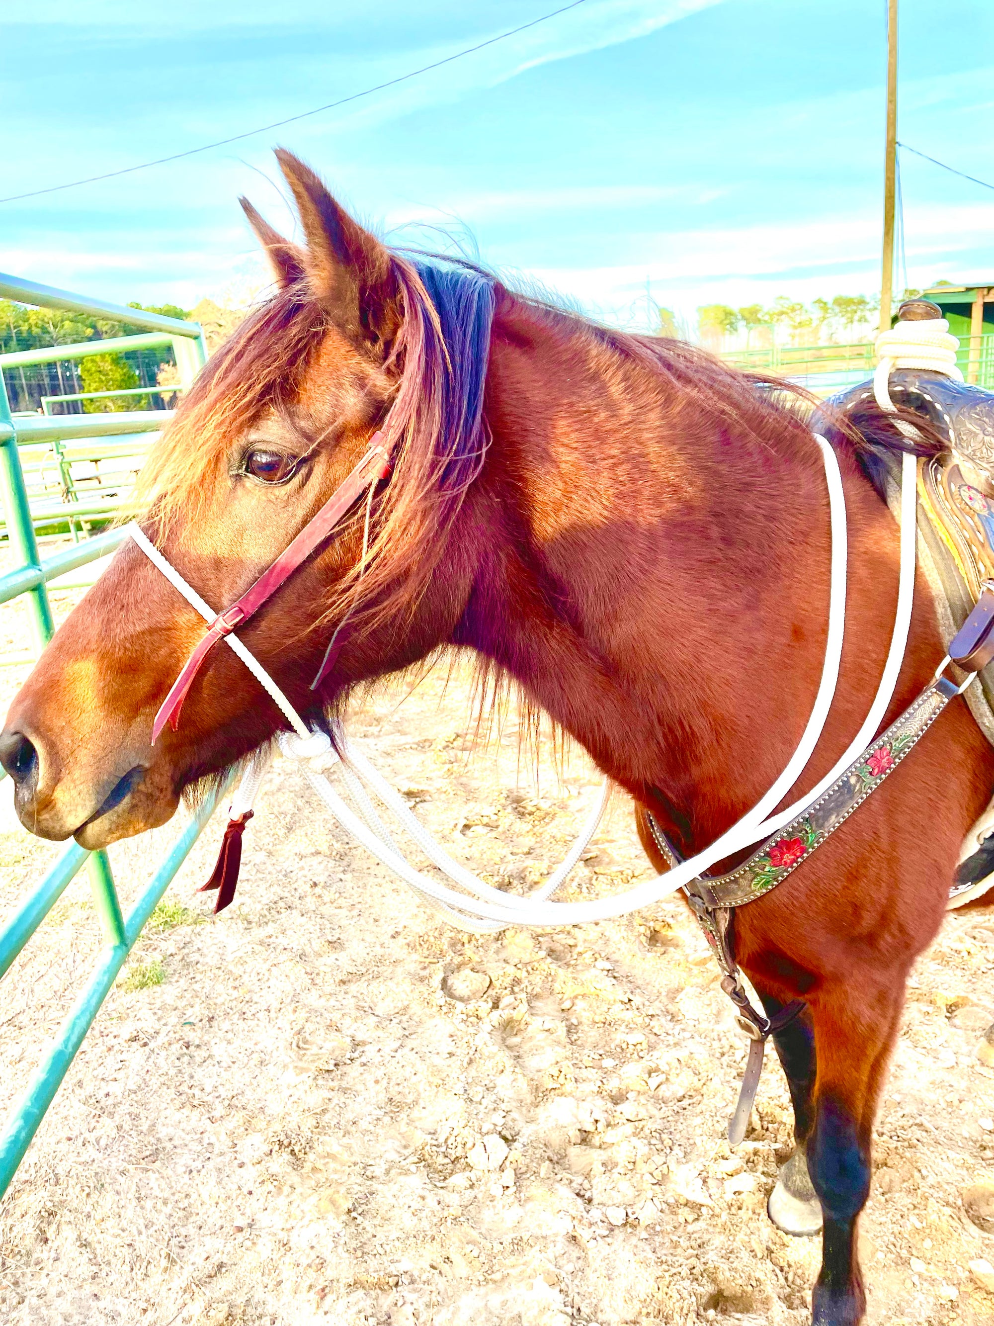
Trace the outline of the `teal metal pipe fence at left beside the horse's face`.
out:
[[[101,354],[107,353],[109,347],[127,349],[134,346],[135,342],[148,342],[151,339],[155,345],[168,343],[174,347],[182,381],[188,383],[204,362],[205,351],[200,328],[192,322],[180,322],[175,318],[160,317],[159,314],[142,313],[137,309],[86,300],[82,296],[53,290],[30,281],[17,281],[8,276],[0,276],[0,296],[17,300],[23,304],[69,309],[91,316],[97,314],[103,318],[117,318],[133,326],[144,326],[148,329],[148,334],[134,337],[103,339],[76,346],[42,347],[41,350],[29,350],[13,355],[0,355],[0,497],[3,497],[3,533],[5,536],[5,542],[0,542],[0,549],[7,549],[8,554],[13,554],[13,565],[7,569],[5,574],[0,575],[0,605],[9,603],[15,598],[27,597],[32,642],[34,646],[33,652],[40,652],[53,631],[48,583],[57,577],[64,577],[66,573],[95,562],[98,558],[111,553],[123,536],[121,530],[110,529],[95,537],[72,544],[68,548],[61,548],[58,552],[42,558],[38,552],[36,526],[38,524],[44,525],[46,520],[50,522],[53,512],[42,509],[40,517],[38,504],[30,500],[29,484],[25,480],[21,456],[33,456],[38,448],[44,447],[61,447],[61,459],[57,451],[53,452],[56,456],[53,463],[58,469],[60,464],[72,465],[74,463],[72,447],[76,446],[80,456],[83,453],[87,456],[97,455],[99,461],[101,447],[107,448],[107,455],[110,455],[114,447],[121,452],[125,439],[133,444],[138,439],[139,450],[144,447],[148,434],[158,432],[162,427],[164,415],[160,410],[150,410],[61,415],[54,418],[27,414],[13,416],[4,385],[3,367],[9,367],[12,362],[16,363],[19,359],[23,361],[24,355],[32,355],[33,359],[30,362],[45,362],[45,357],[50,362],[52,359],[66,357],[68,351],[72,355]],[[97,450],[94,451],[94,448]],[[41,487],[44,497],[44,484]],[[37,496],[37,483],[34,488]],[[78,492],[74,496],[74,501],[64,501],[62,505],[73,507],[77,517],[82,516],[85,509],[90,508],[95,509],[103,518],[111,514],[113,500],[103,501],[103,504],[95,501],[87,508],[83,496]],[[32,509],[33,505],[36,507],[34,511]],[[44,501],[40,500],[40,505],[44,507]],[[11,558],[8,557],[8,560]],[[9,794],[9,782],[4,790]],[[170,882],[209,819],[216,800],[216,796],[209,797],[200,808],[197,815],[183,829],[127,916],[122,912],[107,854],[105,851],[90,853],[77,843],[72,843],[20,907],[15,910],[13,915],[8,918],[3,928],[0,928],[0,979],[3,979],[24,945],[58,902],[70,880],[86,866],[90,875],[94,907],[106,943],[89,981],[76,1000],[76,1004],[69,1009],[60,1032],[44,1050],[21,1099],[0,1131],[0,1196],[7,1191],[17,1166],[21,1163],[30,1144],[30,1139],[34,1136],[45,1111],[58,1091],[69,1065],[73,1062],[76,1052],[80,1049],[101,1004],[114,984],[114,979],[131,952],[144,923],[151,916],[156,903],[166,892]]]

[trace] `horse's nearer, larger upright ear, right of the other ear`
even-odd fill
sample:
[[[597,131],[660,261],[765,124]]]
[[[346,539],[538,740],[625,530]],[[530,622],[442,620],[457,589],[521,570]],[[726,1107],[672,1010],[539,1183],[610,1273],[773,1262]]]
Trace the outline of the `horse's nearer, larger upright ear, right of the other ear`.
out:
[[[309,166],[281,147],[276,158],[297,200],[314,297],[357,345],[388,342],[399,312],[387,248],[353,220]]]

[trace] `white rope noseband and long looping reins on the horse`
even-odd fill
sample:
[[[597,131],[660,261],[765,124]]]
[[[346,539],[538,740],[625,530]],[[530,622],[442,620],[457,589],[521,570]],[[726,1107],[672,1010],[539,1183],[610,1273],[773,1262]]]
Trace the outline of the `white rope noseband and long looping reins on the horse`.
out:
[[[626,892],[592,902],[551,900],[596,831],[607,804],[607,781],[600,792],[598,805],[584,823],[580,835],[567,853],[566,859],[546,883],[526,896],[505,892],[488,884],[467,870],[465,866],[453,861],[445,849],[431,837],[403,797],[391,788],[386,778],[374,769],[366,756],[350,741],[343,740],[341,743],[342,757],[339,758],[327,733],[309,729],[269,672],[249,652],[237,635],[225,635],[224,642],[235,651],[285,715],[292,731],[278,733],[280,749],[285,756],[300,764],[307,782],[342,829],[362,843],[379,862],[392,870],[419,898],[441,912],[452,924],[463,930],[482,932],[500,931],[506,926],[550,927],[624,916],[628,912],[649,907],[669,894],[676,892],[677,888],[708,870],[709,866],[713,866],[742,847],[762,842],[795,815],[801,814],[869,745],[891,703],[897,684],[897,674],[904,659],[914,591],[916,468],[914,456],[909,455],[904,456],[901,469],[901,554],[897,610],[891,647],[877,693],[869,707],[865,721],[828,773],[793,805],[775,815],[770,814],[797,782],[822,736],[835,695],[846,634],[846,572],[848,554],[846,496],[839,463],[831,446],[818,434],[815,434],[815,442],[822,451],[828,483],[831,593],[828,605],[828,638],[826,642],[822,679],[804,732],[794,754],[770,790],[737,823],[710,843],[709,847],[705,847],[704,851],[697,853],[664,874],[636,884]],[[212,622],[216,617],[215,611],[208,607],[196,590],[162,556],[158,548],[150,542],[138,525],[129,525],[127,532],[142,552],[204,621]],[[232,800],[232,814],[240,814],[250,809],[265,770],[266,760],[268,752],[257,752],[250,758],[241,785]],[[326,770],[333,766],[341,774],[355,809],[329,782]],[[440,883],[433,876],[411,865],[380,819],[366,785],[379,802],[391,812],[428,861],[448,876],[453,884],[459,886],[459,891]]]

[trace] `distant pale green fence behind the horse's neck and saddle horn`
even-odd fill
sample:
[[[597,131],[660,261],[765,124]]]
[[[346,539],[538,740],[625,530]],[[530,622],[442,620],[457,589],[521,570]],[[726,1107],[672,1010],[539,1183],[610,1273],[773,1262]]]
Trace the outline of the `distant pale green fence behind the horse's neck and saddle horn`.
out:
[[[728,350],[722,359],[747,373],[775,373],[823,395],[872,378],[876,366],[872,341]],[[994,390],[994,335],[961,337],[956,362],[966,382]]]

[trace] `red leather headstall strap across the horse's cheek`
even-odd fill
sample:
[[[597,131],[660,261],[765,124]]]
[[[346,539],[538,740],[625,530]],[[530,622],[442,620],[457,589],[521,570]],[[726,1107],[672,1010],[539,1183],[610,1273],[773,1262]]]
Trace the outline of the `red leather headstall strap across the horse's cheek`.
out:
[[[293,542],[262,572],[256,583],[250,589],[247,589],[240,599],[232,603],[231,607],[225,607],[211,622],[207,635],[204,635],[183,664],[183,671],[172,683],[170,693],[162,701],[162,708],[155,715],[152,743],[158,740],[159,733],[167,723],[174,732],[179,727],[179,711],[183,708],[187,692],[215,644],[223,640],[225,635],[231,635],[232,631],[237,630],[239,626],[243,626],[257,613],[280,589],[288,575],[292,575],[329,538],[335,525],[339,524],[342,517],[347,514],[349,509],[362,497],[370,485],[378,483],[380,479],[386,479],[391,468],[390,456],[383,447],[383,434],[375,432],[366,455],[349,477],[331,493],[321,511],[307,521]]]

